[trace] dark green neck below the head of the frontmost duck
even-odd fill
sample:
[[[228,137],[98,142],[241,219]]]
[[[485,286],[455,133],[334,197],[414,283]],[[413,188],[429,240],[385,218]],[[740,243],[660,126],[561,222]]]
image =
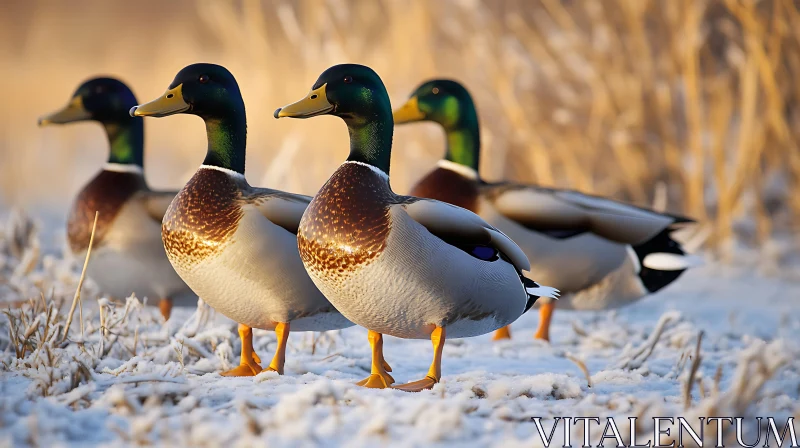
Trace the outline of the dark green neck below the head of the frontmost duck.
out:
[[[389,175],[389,162],[392,158],[392,133],[394,121],[391,107],[386,107],[371,120],[345,120],[350,133],[351,162],[368,163]]]

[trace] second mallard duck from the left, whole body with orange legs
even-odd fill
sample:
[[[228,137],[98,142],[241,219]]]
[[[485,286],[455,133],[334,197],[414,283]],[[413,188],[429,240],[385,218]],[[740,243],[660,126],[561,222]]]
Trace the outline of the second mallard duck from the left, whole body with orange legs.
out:
[[[162,236],[181,278],[211,307],[239,323],[240,363],[223,375],[252,376],[262,370],[252,328],[275,331],[278,346],[267,370],[283,374],[290,329],[353,325],[314,286],[300,261],[297,228],[311,198],[252,187],[244,177],[244,101],[226,68],[189,65],[164,95],[130,113],[184,113],[205,121],[206,158],[167,209]]]

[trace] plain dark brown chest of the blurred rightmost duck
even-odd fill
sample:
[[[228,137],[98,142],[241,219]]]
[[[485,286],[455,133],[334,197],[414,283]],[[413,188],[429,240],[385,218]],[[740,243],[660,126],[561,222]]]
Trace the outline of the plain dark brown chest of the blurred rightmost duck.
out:
[[[448,169],[436,168],[431,171],[417,182],[410,194],[478,212],[478,182]]]

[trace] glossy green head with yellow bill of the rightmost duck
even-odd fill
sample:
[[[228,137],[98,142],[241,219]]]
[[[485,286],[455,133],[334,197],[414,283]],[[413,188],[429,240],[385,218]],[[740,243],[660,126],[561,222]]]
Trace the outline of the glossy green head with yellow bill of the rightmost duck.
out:
[[[417,87],[406,104],[394,112],[395,124],[415,121],[440,124],[447,136],[445,159],[478,171],[478,113],[464,86],[448,79],[434,79]]]

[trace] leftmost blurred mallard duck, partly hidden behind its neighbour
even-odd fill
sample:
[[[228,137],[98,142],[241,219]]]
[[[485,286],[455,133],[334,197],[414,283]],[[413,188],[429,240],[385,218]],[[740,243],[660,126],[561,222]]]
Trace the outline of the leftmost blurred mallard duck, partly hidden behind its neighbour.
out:
[[[66,107],[39,119],[39,125],[97,121],[110,149],[108,162],[81,190],[67,219],[70,251],[84,257],[95,211],[99,212],[87,275],[103,293],[118,298],[136,293],[159,298],[169,319],[172,298],[189,292],[172,269],[161,244],[161,218],[174,191],[153,191],[144,179],[144,128],[128,110],[136,97],[113,78],[90,79],[78,87]]]

